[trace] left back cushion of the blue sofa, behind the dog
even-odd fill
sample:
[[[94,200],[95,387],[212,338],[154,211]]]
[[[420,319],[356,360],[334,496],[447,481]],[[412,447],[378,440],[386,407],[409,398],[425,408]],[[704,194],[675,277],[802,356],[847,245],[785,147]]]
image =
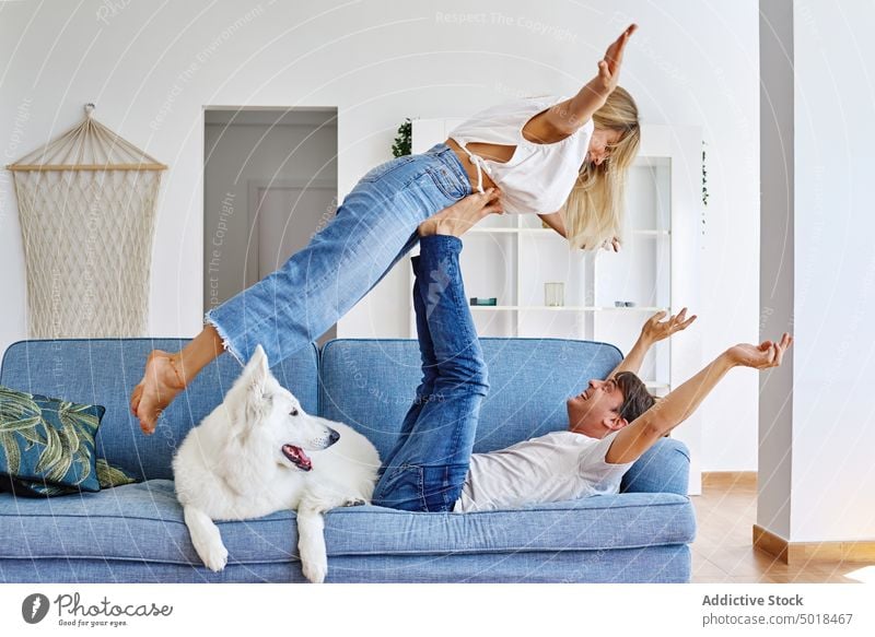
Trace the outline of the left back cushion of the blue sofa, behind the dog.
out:
[[[144,436],[129,400],[143,376],[149,352],[175,352],[187,339],[63,339],[20,341],[9,346],[0,385],[73,402],[102,404],[106,414],[97,432],[97,455],[143,479],[173,477],[171,460],[188,430],[219,403],[242,370],[230,355],[220,356],[173,401],[155,433]],[[279,381],[317,410],[315,345],[275,365]]]

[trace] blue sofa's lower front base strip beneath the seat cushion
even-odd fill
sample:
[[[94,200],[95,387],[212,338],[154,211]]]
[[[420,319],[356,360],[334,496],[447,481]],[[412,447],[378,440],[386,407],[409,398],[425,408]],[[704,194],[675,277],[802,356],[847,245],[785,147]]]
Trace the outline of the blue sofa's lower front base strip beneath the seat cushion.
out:
[[[447,555],[340,555],[328,559],[329,582],[349,583],[680,583],[690,578],[687,544],[617,548]],[[66,559],[0,559],[0,582],[233,583],[305,582],[298,562],[231,563],[221,573],[187,564]],[[330,593],[330,591],[328,591]]]

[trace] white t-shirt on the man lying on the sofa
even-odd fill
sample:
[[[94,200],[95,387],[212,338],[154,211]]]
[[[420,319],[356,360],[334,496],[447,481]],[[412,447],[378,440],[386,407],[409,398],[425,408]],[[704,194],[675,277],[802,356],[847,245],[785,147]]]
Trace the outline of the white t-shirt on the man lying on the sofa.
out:
[[[617,433],[598,439],[553,432],[499,451],[474,453],[453,511],[512,509],[618,493],[633,463],[605,462]]]

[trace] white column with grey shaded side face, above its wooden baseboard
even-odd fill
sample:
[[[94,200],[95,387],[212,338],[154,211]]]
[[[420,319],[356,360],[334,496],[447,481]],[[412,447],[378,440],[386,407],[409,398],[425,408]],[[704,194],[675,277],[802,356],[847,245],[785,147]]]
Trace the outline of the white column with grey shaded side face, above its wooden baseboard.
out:
[[[757,523],[790,543],[875,540],[875,5],[760,2]]]

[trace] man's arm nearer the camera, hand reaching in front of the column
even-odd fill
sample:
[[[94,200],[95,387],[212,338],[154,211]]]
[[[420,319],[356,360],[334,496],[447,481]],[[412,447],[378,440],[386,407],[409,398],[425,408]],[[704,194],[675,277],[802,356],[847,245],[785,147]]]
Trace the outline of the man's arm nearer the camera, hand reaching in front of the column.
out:
[[[609,464],[623,464],[638,460],[656,440],[686,421],[730,369],[778,367],[792,343],[793,337],[785,333],[778,343],[766,341],[759,346],[742,344],[730,347],[704,369],[620,429],[605,461]]]

